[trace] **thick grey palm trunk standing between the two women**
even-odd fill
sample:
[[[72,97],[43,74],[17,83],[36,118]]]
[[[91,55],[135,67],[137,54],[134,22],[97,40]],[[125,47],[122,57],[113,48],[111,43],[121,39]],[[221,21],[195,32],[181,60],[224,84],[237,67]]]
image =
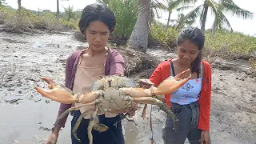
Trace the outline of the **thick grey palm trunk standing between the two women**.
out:
[[[150,1],[151,0],[138,1],[138,18],[128,42],[128,47],[144,52],[147,50],[148,45]]]

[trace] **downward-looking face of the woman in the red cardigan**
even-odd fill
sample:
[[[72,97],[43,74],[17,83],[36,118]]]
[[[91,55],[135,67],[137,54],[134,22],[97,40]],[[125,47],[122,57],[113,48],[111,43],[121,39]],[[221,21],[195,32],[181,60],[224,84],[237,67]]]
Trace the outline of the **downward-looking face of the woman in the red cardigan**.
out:
[[[183,64],[191,64],[197,58],[199,52],[198,46],[189,40],[185,40],[178,46],[178,58]]]

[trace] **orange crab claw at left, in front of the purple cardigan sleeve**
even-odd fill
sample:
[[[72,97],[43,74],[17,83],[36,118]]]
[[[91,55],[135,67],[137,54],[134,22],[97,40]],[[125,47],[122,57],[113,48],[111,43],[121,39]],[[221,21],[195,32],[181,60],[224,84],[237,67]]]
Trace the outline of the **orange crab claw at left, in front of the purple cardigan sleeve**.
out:
[[[35,86],[35,89],[38,90],[38,93],[42,94],[43,97],[65,104],[78,102],[78,99],[74,98],[72,91],[65,86],[56,85],[56,83],[50,78],[42,77],[41,79],[48,83],[48,87],[50,89],[42,90],[42,88]]]

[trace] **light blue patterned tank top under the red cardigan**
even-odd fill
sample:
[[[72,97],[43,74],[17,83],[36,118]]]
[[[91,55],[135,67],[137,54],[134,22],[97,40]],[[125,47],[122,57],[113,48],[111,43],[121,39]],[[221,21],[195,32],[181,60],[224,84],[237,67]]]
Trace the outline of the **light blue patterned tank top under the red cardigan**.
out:
[[[178,103],[179,105],[187,105],[191,102],[196,102],[199,99],[202,90],[202,63],[201,63],[201,78],[190,79],[178,90],[171,93],[170,102]],[[173,63],[170,61],[170,73],[175,76]]]

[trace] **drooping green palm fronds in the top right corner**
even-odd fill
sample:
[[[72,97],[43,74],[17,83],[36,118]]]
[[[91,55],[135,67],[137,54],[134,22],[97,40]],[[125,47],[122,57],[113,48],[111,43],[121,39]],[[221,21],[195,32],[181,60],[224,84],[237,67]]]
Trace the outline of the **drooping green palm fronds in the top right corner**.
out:
[[[196,2],[197,0],[194,0]],[[186,15],[186,18],[193,19],[200,18],[201,22],[201,30],[205,32],[206,26],[206,16],[208,14],[208,10],[212,10],[215,15],[215,20],[213,24],[213,30],[217,30],[218,28],[226,25],[231,28],[230,22],[226,18],[225,12],[231,13],[238,18],[253,18],[254,14],[250,11],[243,10],[239,6],[237,6],[233,0],[219,0],[219,2],[214,2],[214,0],[204,0],[202,5],[199,5],[191,10],[189,14]]]

